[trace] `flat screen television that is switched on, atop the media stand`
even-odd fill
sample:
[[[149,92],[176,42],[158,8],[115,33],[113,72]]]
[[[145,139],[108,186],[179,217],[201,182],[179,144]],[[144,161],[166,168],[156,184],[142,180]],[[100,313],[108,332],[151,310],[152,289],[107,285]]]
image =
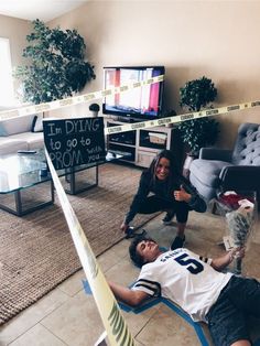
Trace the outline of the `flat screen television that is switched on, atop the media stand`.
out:
[[[104,88],[147,80],[164,73],[164,66],[104,67]],[[163,82],[159,82],[106,96],[102,100],[102,113],[132,120],[151,120],[162,116],[162,102]]]

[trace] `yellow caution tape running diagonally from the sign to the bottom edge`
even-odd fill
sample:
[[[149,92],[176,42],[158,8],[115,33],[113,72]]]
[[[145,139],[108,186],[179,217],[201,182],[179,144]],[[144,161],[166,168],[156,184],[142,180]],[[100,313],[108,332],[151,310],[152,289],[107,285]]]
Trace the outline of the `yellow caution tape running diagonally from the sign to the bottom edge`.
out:
[[[77,216],[68,202],[67,195],[63,190],[46,149],[45,154],[64,216],[66,218],[88,283],[93,291],[94,299],[98,306],[98,311],[106,328],[109,343],[111,346],[134,346],[134,340],[121,315],[118,303],[115,300],[105,275],[98,266],[98,262],[77,219]]]

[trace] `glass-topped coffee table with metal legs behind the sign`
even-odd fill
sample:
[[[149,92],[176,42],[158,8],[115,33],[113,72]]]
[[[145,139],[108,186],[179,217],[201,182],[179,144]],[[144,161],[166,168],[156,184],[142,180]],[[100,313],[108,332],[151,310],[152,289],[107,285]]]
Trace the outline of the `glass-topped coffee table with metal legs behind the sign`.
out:
[[[57,171],[68,194],[98,185],[98,166],[124,156],[108,152],[100,162]],[[0,208],[23,216],[54,203],[54,186],[44,150],[0,155]]]

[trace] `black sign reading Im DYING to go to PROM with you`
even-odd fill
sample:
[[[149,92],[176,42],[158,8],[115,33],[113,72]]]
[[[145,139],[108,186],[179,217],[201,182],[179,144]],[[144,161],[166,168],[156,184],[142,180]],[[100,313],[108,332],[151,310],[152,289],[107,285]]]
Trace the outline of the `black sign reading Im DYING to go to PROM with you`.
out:
[[[102,118],[44,120],[44,143],[56,170],[105,160]]]

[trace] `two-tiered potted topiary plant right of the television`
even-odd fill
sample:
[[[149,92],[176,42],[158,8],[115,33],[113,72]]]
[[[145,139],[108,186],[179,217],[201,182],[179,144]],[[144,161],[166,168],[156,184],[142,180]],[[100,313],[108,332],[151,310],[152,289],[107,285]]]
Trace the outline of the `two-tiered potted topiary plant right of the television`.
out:
[[[217,88],[212,79],[203,76],[187,82],[180,89],[180,105],[188,111],[199,111],[202,108],[213,108]],[[218,121],[213,118],[201,118],[183,121],[178,125],[181,138],[188,145],[189,152],[184,163],[184,175],[188,175],[189,164],[198,156],[199,149],[216,143],[219,129]]]

